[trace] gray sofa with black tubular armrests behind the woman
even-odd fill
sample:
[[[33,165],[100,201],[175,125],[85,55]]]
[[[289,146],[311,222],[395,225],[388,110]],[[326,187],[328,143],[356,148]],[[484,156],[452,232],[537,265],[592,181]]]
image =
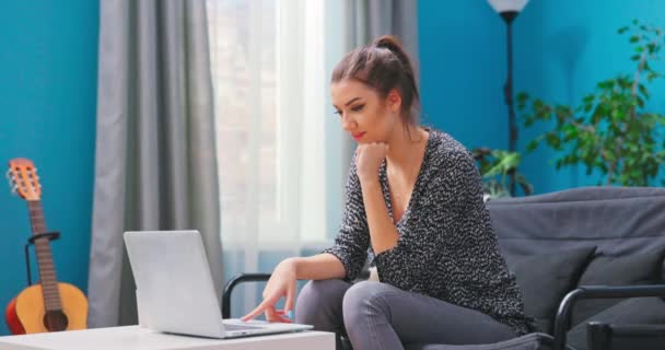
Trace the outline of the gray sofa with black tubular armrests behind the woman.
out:
[[[586,187],[487,206],[538,331],[492,345],[408,349],[665,349],[665,188]],[[224,315],[237,283],[267,278],[230,281]]]

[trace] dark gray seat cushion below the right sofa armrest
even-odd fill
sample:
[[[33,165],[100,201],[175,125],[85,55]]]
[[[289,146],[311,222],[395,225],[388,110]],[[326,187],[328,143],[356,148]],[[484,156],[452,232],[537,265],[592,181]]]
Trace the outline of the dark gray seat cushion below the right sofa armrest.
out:
[[[586,324],[603,322],[615,325],[665,325],[665,302],[658,298],[639,298],[625,300],[598,314],[593,315],[571,329],[568,343],[578,350],[586,349]],[[634,339],[633,339],[634,341]],[[615,349],[612,343],[612,349]],[[619,348],[617,348],[619,349]],[[634,343],[631,348],[635,349]]]

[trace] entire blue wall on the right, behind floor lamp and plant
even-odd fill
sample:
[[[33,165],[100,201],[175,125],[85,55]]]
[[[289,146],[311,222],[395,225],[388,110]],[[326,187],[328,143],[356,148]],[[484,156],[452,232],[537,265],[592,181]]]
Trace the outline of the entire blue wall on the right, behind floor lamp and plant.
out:
[[[505,149],[504,24],[487,1],[452,4],[419,1],[423,112],[468,148]],[[616,34],[632,19],[665,28],[665,1],[532,0],[514,22],[515,92],[576,105],[597,81],[633,71],[627,37]],[[650,106],[665,113],[663,82],[654,89]],[[518,150],[541,130],[522,128]],[[584,168],[557,172],[553,159],[547,148],[525,155],[521,171],[536,192],[597,183]]]

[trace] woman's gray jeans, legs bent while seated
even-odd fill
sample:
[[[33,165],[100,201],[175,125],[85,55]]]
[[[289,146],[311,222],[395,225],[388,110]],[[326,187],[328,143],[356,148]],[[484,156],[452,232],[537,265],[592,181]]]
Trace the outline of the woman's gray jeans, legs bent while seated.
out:
[[[295,304],[295,322],[348,336],[354,350],[418,348],[424,343],[492,343],[515,332],[492,317],[387,283],[310,281]]]

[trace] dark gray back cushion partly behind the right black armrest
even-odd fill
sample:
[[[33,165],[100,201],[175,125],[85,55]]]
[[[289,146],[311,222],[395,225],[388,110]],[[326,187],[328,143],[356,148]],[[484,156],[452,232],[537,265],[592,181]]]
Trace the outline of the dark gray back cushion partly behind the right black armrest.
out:
[[[626,256],[598,255],[588,264],[579,285],[629,285],[661,282],[665,246],[660,245],[642,254]],[[621,302],[621,299],[581,300],[572,313],[572,325]]]

